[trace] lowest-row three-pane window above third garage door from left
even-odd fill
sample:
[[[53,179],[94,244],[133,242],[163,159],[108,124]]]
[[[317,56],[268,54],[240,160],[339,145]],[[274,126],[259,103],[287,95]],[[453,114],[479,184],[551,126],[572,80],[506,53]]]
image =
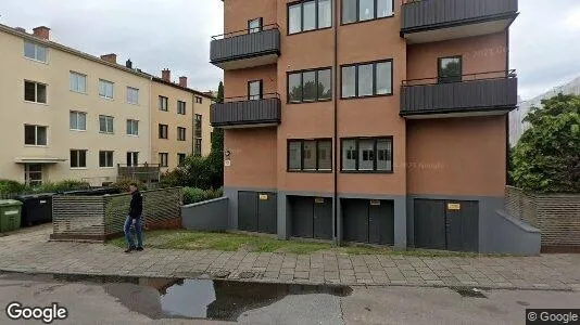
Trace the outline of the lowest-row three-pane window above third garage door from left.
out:
[[[392,138],[342,139],[342,170],[392,172]]]

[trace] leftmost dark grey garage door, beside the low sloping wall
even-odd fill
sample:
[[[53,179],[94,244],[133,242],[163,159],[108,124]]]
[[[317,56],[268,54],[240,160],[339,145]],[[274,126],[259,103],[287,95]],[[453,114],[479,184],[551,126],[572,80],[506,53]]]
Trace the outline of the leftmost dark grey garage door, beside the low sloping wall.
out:
[[[238,229],[276,234],[276,193],[238,192]]]

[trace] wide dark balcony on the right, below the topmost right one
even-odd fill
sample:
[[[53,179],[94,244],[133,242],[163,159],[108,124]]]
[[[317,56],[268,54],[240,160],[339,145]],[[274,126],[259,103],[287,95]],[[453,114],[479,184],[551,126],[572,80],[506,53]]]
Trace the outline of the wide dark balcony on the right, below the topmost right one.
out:
[[[483,116],[502,115],[516,108],[515,70],[463,75],[455,82],[440,81],[438,78],[403,81],[400,115],[407,119]]]

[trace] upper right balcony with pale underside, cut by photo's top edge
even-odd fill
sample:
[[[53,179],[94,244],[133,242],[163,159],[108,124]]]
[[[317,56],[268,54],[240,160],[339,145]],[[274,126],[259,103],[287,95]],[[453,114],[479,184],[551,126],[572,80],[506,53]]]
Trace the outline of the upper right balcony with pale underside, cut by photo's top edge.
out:
[[[401,37],[436,42],[505,30],[518,15],[518,0],[406,0]]]

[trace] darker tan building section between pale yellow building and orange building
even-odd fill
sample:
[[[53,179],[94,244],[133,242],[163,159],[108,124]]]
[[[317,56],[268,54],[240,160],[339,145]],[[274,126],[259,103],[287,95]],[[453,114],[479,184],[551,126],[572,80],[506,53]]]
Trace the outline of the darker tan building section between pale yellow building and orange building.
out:
[[[169,69],[152,81],[151,161],[167,171],[191,154],[210,154],[213,128],[209,116],[214,98],[188,88],[187,77],[173,82]]]

